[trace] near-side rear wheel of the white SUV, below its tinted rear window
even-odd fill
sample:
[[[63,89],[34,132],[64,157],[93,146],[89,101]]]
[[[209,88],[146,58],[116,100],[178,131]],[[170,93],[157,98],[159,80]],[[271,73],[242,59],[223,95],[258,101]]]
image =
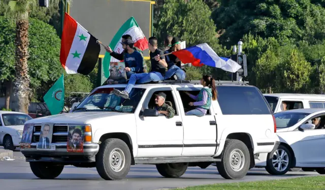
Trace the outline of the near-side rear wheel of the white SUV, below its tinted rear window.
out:
[[[221,162],[217,162],[219,174],[225,179],[241,179],[250,164],[249,150],[245,143],[237,139],[225,141]]]

